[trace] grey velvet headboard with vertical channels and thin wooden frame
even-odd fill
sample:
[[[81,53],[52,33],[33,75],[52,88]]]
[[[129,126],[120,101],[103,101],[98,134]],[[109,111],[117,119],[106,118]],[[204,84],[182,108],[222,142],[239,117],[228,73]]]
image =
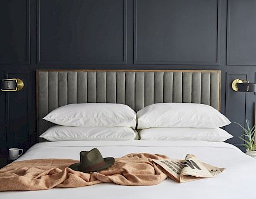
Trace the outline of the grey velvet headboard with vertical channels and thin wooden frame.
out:
[[[69,103],[125,103],[135,111],[159,102],[204,103],[220,110],[220,71],[37,70],[38,137],[42,118]]]

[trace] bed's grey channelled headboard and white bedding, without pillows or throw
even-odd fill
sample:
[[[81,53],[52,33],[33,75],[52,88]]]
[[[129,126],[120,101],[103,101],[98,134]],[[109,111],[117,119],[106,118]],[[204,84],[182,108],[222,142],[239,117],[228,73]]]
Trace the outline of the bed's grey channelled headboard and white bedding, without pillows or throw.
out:
[[[159,102],[204,103],[220,110],[220,71],[38,71],[38,137],[51,123],[43,117],[68,103],[125,103],[135,111]],[[256,161],[224,142],[198,140],[88,140],[42,142],[16,161],[64,158],[79,160],[80,151],[98,148],[105,157],[131,153],[163,154],[225,167],[211,179],[179,184],[170,179],[154,186],[102,183],[81,188],[1,192],[1,198],[240,198],[251,194]]]

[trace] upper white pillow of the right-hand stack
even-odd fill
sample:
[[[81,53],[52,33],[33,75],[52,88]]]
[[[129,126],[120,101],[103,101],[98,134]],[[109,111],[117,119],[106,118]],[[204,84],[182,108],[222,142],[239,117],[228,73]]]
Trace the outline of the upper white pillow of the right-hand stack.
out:
[[[200,103],[155,103],[137,113],[138,129],[151,127],[218,128],[230,124],[212,106]]]

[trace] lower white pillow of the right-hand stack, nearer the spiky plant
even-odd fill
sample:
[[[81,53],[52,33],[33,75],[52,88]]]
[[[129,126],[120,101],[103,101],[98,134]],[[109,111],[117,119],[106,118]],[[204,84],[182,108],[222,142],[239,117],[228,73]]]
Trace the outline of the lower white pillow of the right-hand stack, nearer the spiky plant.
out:
[[[141,140],[204,140],[224,142],[233,138],[221,128],[146,128],[139,130]]]

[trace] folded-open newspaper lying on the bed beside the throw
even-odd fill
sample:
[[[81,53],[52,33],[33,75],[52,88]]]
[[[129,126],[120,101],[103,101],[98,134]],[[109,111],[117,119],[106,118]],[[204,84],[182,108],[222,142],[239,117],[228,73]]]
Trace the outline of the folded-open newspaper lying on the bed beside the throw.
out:
[[[190,154],[185,157],[185,160],[162,159],[153,161],[160,166],[159,168],[167,176],[178,183],[185,183],[205,177],[214,177],[225,170],[225,168],[201,163],[195,155]]]

